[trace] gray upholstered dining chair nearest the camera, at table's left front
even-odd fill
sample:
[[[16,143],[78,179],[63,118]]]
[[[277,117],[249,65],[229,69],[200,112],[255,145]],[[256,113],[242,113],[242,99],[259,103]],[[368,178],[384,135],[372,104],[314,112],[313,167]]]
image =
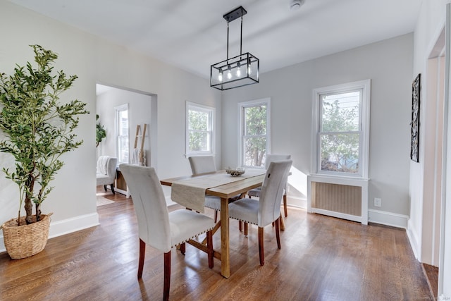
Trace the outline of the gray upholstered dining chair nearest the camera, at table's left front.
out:
[[[146,244],[164,253],[163,300],[168,300],[171,285],[171,249],[180,245],[185,254],[185,242],[206,233],[209,268],[213,268],[213,219],[194,211],[178,209],[168,212],[161,183],[152,167],[121,164],[135,207],[140,238],[138,279],[142,278]]]

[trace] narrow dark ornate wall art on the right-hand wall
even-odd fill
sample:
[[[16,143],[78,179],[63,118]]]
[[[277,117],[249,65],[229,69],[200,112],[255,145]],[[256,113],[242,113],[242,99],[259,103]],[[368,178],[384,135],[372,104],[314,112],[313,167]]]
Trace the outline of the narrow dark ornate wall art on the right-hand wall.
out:
[[[420,90],[421,90],[421,74],[416,75],[412,82],[412,122],[411,125],[411,145],[410,159],[419,162],[419,136],[420,136]]]

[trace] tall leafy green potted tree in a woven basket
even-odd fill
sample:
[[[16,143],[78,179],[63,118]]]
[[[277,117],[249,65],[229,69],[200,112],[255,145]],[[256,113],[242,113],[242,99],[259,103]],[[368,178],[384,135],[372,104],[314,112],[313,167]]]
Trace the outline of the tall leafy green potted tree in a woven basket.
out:
[[[51,180],[63,167],[61,155],[82,144],[73,130],[79,116],[89,113],[78,100],[60,102],[60,94],[78,77],[54,71],[52,64],[58,56],[53,51],[31,47],[36,67],[27,62],[26,66],[16,65],[12,75],[0,74],[0,152],[10,154],[15,162],[15,168],[2,170],[19,188],[18,200],[14,200],[19,203],[18,217],[1,226],[13,259],[44,250],[51,214],[42,214],[41,204],[53,189]],[[22,205],[25,216],[20,216]]]

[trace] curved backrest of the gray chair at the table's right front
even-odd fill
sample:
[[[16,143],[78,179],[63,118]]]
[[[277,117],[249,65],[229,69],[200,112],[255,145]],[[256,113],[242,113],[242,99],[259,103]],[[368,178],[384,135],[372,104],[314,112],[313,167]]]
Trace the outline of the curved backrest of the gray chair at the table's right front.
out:
[[[259,199],[259,227],[264,227],[280,216],[280,203],[292,160],[273,161],[266,170],[266,176],[261,185]]]

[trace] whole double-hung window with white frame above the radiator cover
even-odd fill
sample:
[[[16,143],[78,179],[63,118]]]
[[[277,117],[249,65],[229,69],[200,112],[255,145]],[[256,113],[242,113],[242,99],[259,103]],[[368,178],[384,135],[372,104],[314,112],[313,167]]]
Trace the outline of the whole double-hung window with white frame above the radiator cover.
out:
[[[370,80],[314,90],[314,173],[368,178]]]

